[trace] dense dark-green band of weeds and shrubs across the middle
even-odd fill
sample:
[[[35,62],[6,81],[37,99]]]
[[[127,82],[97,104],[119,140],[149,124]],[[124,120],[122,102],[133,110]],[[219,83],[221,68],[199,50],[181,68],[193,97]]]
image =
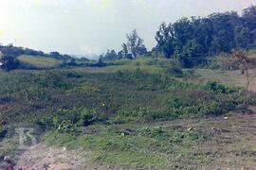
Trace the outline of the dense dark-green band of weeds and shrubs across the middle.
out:
[[[3,72],[0,75],[0,118],[9,124],[37,123],[45,129],[56,127],[55,124],[57,127],[87,126],[95,122],[218,115],[239,109],[244,96],[241,92],[215,82],[181,83],[172,76],[139,71],[113,74]]]

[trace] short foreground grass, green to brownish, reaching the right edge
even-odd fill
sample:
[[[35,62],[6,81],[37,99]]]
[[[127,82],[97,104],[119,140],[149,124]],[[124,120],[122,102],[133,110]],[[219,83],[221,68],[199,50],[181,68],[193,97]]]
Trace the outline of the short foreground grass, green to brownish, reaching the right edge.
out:
[[[45,142],[90,150],[91,161],[132,169],[255,167],[255,115],[95,125],[79,136],[49,132]]]

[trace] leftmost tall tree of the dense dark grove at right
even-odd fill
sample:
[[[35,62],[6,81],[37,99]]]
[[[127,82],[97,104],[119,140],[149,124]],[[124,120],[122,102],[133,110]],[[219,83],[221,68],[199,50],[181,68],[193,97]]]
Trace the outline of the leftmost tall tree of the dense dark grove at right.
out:
[[[159,49],[166,58],[174,55],[174,26],[162,23],[156,32],[155,40],[157,45],[155,49]]]

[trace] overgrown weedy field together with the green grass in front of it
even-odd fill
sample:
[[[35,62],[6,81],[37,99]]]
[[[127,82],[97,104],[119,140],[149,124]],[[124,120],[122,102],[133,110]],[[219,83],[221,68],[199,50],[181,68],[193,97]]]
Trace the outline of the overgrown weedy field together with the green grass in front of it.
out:
[[[214,159],[193,148],[210,142],[209,131],[161,122],[241,111],[244,88],[191,81],[200,79],[199,72],[166,61],[138,59],[91,71],[0,72],[0,155],[17,157],[15,127],[34,127],[39,138],[47,134],[49,144],[92,150],[97,162],[155,169],[209,165]],[[250,92],[250,105],[255,98]]]

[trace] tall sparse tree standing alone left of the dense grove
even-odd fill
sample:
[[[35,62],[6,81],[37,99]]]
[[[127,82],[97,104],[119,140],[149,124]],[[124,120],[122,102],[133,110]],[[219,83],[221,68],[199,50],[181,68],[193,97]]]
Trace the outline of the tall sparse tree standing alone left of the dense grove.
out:
[[[132,54],[132,58],[137,58],[137,55],[141,52],[141,50],[145,49],[145,45],[143,45],[143,40],[139,38],[137,35],[137,29],[133,30],[132,33],[126,34],[127,42],[122,44],[122,48],[124,53]]]

